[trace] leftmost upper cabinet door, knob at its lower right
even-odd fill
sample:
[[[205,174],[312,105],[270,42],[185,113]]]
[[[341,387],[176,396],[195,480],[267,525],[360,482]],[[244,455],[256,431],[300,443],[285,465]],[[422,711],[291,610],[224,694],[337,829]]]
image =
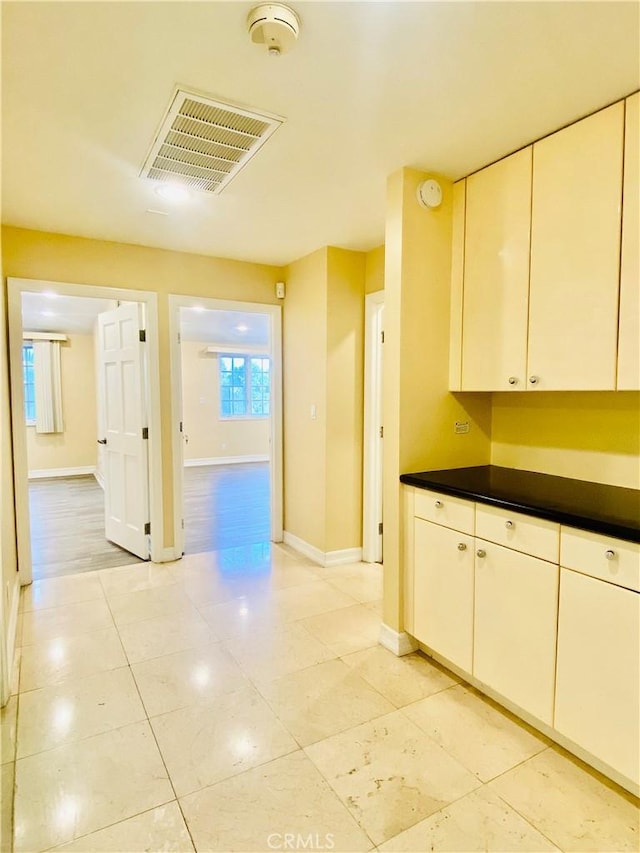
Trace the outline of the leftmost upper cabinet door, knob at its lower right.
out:
[[[467,179],[463,391],[526,388],[531,150]]]

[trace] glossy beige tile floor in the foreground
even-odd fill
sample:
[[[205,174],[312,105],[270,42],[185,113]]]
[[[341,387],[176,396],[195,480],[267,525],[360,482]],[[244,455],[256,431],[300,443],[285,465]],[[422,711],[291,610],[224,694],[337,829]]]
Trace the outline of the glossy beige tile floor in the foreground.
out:
[[[377,645],[381,588],[280,546],[34,583],[2,850],[13,799],[29,853],[637,851],[629,795]]]

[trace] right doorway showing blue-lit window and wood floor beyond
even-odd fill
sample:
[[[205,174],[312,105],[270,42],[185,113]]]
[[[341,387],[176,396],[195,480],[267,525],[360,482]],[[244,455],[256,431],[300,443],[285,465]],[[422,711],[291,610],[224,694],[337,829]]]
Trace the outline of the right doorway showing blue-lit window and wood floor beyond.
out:
[[[280,308],[173,296],[171,318],[182,550],[266,555],[282,540]]]

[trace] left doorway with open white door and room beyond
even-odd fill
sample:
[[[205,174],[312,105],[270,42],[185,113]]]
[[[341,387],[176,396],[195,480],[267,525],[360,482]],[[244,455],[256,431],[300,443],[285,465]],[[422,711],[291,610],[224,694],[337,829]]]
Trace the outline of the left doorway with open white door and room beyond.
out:
[[[131,565],[154,550],[155,295],[136,296],[9,280],[22,584]]]

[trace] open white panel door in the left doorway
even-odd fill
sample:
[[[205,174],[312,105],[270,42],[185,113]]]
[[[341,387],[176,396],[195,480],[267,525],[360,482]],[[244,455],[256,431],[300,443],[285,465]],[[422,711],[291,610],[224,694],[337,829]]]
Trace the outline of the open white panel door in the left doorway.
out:
[[[146,560],[149,556],[149,473],[140,305],[98,316],[98,365],[104,412],[105,535]]]

